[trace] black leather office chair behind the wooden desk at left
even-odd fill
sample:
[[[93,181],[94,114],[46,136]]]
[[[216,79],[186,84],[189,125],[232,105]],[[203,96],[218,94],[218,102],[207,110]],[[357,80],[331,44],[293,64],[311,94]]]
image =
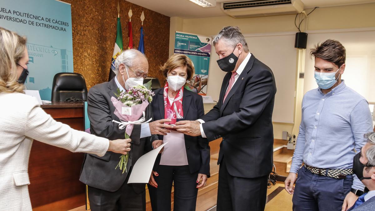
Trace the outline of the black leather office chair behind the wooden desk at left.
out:
[[[51,101],[65,101],[67,98],[87,100],[85,78],[74,72],[60,72],[53,77]]]

